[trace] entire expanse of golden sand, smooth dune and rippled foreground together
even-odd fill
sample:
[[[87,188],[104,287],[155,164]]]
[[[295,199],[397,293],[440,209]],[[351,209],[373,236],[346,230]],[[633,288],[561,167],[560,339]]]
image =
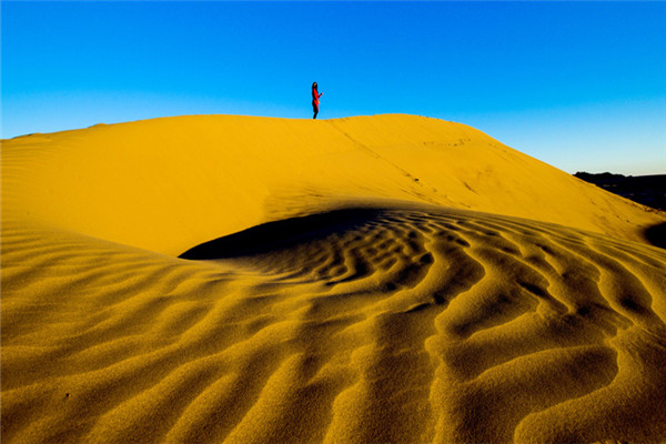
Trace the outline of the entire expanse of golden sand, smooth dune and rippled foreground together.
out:
[[[413,115],[4,140],[1,437],[666,442],[664,223]]]

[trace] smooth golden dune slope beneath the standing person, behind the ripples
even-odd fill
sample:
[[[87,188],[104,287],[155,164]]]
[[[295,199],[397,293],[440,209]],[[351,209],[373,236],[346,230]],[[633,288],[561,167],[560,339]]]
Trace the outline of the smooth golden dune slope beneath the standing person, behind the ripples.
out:
[[[2,141],[2,173],[6,218],[170,255],[350,200],[431,203],[642,242],[665,220],[471,127],[403,114],[185,115],[33,134]]]

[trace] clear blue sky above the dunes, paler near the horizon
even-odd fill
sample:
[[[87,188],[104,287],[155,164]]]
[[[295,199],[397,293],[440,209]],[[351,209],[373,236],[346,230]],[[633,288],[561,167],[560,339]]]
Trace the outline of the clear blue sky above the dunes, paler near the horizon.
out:
[[[666,173],[665,2],[2,1],[2,137],[411,113],[568,172]]]

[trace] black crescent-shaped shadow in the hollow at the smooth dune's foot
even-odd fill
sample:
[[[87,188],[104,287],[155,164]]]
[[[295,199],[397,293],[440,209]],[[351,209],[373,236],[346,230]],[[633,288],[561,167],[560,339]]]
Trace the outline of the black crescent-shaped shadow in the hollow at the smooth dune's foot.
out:
[[[364,225],[382,214],[379,209],[344,209],[268,222],[199,244],[180,259],[214,260],[268,253]]]

